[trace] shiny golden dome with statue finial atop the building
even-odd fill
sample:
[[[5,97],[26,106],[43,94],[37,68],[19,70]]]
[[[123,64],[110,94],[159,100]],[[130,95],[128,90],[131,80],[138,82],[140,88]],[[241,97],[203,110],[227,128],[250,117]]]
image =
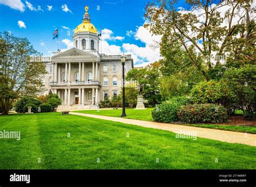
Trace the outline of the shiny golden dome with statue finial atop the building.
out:
[[[91,24],[90,15],[88,13],[89,7],[85,6],[85,13],[84,13],[84,19],[83,23],[78,25],[75,29],[74,34],[77,32],[92,32],[97,34],[97,29],[93,24]]]

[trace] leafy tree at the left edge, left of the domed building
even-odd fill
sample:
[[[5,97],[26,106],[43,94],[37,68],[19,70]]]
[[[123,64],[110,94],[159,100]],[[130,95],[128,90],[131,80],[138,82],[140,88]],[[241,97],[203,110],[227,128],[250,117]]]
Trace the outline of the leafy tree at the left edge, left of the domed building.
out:
[[[8,114],[14,99],[35,96],[41,91],[42,78],[46,74],[44,63],[31,62],[32,56],[41,56],[29,40],[0,33],[0,100],[2,113]]]

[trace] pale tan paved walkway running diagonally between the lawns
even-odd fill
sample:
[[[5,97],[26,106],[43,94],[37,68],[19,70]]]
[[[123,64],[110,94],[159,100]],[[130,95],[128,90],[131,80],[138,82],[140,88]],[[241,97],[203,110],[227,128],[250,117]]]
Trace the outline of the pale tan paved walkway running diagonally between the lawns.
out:
[[[185,125],[165,124],[165,123],[157,123],[153,121],[143,121],[143,120],[136,120],[136,119],[99,116],[99,115],[85,114],[85,113],[70,112],[70,114],[97,118],[97,119],[110,120],[110,121],[117,121],[124,124],[138,125],[138,126],[147,127],[147,128],[157,128],[160,130],[171,131],[179,134],[186,134],[186,133],[193,134],[196,132],[197,137],[200,137],[200,138],[207,138],[207,139],[219,140],[219,141],[224,141],[229,143],[242,143],[250,146],[256,146],[256,134],[215,130],[211,128],[191,127],[191,126],[185,126]]]

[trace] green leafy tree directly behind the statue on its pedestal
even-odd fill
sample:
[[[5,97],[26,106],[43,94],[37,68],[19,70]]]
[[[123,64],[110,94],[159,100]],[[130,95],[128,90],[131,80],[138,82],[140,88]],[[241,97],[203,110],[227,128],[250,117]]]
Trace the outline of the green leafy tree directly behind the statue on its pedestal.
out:
[[[161,76],[159,67],[160,64],[154,62],[142,69],[133,68],[126,74],[126,81],[137,81],[143,84],[143,96],[149,101],[149,104],[152,105],[156,105],[161,100],[159,94],[159,78]]]

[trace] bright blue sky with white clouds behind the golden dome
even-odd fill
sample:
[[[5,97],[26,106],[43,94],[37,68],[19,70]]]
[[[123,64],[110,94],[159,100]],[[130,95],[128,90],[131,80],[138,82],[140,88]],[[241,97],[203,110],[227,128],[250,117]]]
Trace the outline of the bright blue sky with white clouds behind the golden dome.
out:
[[[135,64],[142,64],[159,59],[159,51],[149,49],[159,37],[150,38],[143,28],[146,4],[147,0],[0,0],[0,32],[26,37],[38,52],[51,55],[57,49],[52,40],[55,28],[59,28],[59,48],[70,47],[73,29],[82,23],[88,5],[92,24],[98,31],[100,26],[104,29],[103,52],[130,53]]]

